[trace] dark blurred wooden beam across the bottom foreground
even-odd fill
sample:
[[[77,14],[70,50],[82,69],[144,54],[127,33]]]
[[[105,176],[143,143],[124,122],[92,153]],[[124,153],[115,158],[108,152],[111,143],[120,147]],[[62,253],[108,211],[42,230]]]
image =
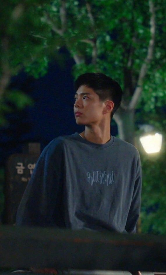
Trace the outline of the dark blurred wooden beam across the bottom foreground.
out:
[[[166,271],[165,236],[0,227],[0,267]]]

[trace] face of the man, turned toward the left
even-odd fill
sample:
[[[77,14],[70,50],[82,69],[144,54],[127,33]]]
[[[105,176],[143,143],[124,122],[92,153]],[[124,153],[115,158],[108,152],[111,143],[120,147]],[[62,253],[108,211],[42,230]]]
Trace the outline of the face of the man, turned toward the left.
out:
[[[74,113],[78,125],[99,124],[104,119],[104,102],[88,86],[80,86],[75,93]],[[82,114],[76,115],[76,112]]]

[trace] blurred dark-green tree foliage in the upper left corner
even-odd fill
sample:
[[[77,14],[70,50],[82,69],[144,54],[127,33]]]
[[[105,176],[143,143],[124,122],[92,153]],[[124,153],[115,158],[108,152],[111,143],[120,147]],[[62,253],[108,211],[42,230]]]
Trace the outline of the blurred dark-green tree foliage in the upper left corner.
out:
[[[47,72],[47,49],[50,28],[41,22],[42,13],[38,6],[46,1],[7,0],[0,2],[0,125],[6,125],[4,114],[32,105],[33,100],[26,93],[12,89],[11,79],[20,70],[31,71],[34,77]],[[36,33],[49,33],[45,38]],[[47,54],[46,54],[47,52]],[[13,106],[14,105],[14,106]],[[13,108],[14,107],[14,108]]]

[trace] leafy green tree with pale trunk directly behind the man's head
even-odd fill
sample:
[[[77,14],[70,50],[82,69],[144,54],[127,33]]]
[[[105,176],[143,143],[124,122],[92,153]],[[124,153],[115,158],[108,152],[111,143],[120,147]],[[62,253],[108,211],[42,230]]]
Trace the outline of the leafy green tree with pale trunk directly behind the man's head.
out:
[[[73,56],[75,77],[97,71],[119,81],[124,94],[114,120],[119,136],[134,143],[141,96],[147,109],[165,102],[162,1],[56,0],[41,9],[54,37]]]

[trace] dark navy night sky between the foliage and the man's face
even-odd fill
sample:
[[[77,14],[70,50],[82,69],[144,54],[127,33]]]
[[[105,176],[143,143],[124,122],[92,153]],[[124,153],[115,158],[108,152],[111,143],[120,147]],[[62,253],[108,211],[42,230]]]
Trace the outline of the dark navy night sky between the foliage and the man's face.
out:
[[[33,107],[8,114],[8,127],[0,129],[0,166],[13,153],[22,152],[22,144],[35,141],[41,150],[55,137],[82,132],[84,126],[75,123],[74,89],[71,73],[74,61],[67,58],[63,68],[55,61],[44,77],[34,79],[25,72],[13,77],[11,88],[28,93]],[[112,135],[117,134],[115,123]]]

